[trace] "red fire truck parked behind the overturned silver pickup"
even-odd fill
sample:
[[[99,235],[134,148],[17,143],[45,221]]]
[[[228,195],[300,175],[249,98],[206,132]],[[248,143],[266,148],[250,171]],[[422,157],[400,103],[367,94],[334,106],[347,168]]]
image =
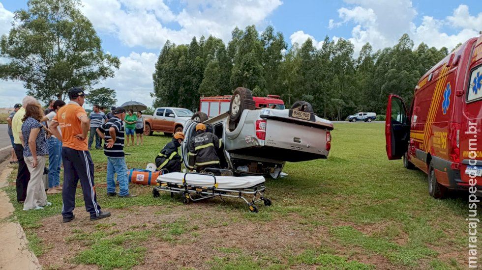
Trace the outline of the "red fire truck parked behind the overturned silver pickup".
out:
[[[284,102],[279,96],[268,95],[267,97],[253,97],[253,101],[256,103],[256,107],[285,109]],[[206,113],[208,117],[211,118],[228,111],[230,102],[231,96],[201,97],[199,111]]]

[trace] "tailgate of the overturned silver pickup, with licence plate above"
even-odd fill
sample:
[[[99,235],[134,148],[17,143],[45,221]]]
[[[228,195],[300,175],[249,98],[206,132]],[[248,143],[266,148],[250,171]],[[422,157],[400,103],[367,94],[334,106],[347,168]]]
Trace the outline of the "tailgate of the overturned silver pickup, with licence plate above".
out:
[[[291,150],[286,152],[291,155],[293,151],[299,152],[295,153],[299,157],[291,157],[295,161],[308,160],[313,155],[320,155],[317,158],[323,158],[328,156],[326,134],[326,130],[322,128],[267,119],[265,146]],[[287,157],[282,159],[285,158]]]

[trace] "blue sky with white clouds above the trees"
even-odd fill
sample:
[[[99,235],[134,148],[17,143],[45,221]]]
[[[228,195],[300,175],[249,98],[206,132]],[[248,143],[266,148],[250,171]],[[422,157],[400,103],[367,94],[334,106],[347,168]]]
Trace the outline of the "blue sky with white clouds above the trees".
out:
[[[271,25],[288,46],[307,38],[321,47],[330,40],[350,40],[358,54],[370,42],[374,51],[392,47],[407,33],[415,48],[422,42],[449,51],[479,36],[480,0],[81,0],[80,10],[92,22],[105,52],[121,67],[93,88],[116,90],[118,105],[138,101],[152,106],[152,73],[167,40],[188,44],[192,37],[213,35],[227,44],[231,31]],[[26,0],[0,0],[0,35],[8,34],[13,12]],[[0,62],[8,61],[0,58]],[[21,81],[0,81],[0,108],[22,101]],[[88,91],[87,91],[88,92]],[[85,106],[90,108],[89,105]]]

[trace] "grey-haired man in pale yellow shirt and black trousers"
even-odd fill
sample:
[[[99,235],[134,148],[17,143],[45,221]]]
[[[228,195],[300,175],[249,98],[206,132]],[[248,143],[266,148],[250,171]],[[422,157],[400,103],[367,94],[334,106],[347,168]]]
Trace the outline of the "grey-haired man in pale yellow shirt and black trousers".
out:
[[[12,118],[12,134],[15,148],[15,155],[18,160],[18,172],[15,184],[17,186],[17,201],[23,203],[27,197],[27,186],[30,181],[30,172],[24,160],[24,136],[22,135],[22,119],[25,116],[25,108],[29,104],[35,104],[37,100],[34,97],[26,96],[22,100],[22,107],[15,113]]]

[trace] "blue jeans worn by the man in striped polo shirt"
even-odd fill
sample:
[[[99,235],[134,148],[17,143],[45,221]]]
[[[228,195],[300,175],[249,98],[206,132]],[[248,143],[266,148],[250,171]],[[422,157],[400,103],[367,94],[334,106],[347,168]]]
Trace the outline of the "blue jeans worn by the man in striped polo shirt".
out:
[[[129,181],[127,179],[127,165],[124,158],[107,158],[107,192],[116,192],[116,181],[114,181],[114,173],[117,173],[117,181],[119,181],[119,196],[129,194]]]

